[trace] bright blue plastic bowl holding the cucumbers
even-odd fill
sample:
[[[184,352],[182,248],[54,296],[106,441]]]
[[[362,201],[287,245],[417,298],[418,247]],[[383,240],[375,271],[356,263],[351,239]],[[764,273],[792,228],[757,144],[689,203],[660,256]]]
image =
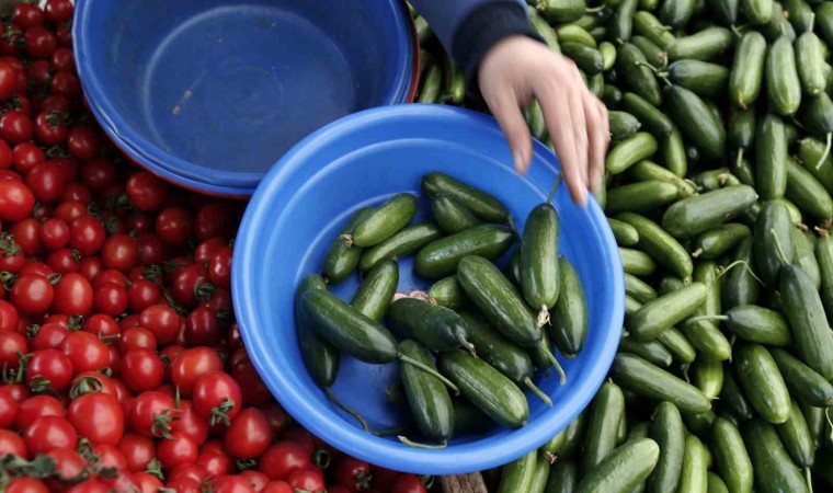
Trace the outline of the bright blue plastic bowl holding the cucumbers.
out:
[[[493,118],[438,105],[399,105],[347,116],[293,148],[263,180],[246,211],[235,245],[232,294],[246,347],[265,383],[287,412],[332,446],[370,463],[420,474],[454,474],[495,467],[541,446],[581,412],[601,387],[621,334],[624,280],[613,233],[598,205],[575,206],[566,186],[556,194],[560,251],[575,265],[590,308],[590,334],[573,359],[559,358],[567,385],[538,377],[555,405],[529,395],[529,423],[494,427],[455,439],[443,450],[408,447],[365,433],[316,387],[298,349],[293,298],[300,279],[319,272],[339,229],[358,208],[399,192],[419,194],[420,177],[444,171],[481,187],[510,208],[518,228],[558,174],[555,154],[535,144],[529,172],[512,169],[506,141]],[[426,210],[425,204],[421,209]],[[418,219],[419,220],[419,219]],[[400,261],[399,290],[426,288]],[[345,300],[354,275],[333,291]],[[403,423],[408,411],[389,403],[385,388],[396,364],[342,358],[333,392],[374,429]]]

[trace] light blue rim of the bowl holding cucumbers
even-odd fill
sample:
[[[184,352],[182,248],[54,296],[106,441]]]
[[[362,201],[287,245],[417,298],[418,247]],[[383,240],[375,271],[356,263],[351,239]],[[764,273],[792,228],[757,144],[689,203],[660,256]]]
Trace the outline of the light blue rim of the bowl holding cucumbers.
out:
[[[263,253],[253,246],[255,243],[253,233],[258,229],[258,225],[262,223],[266,215],[270,214],[266,210],[264,198],[269,198],[270,195],[274,194],[275,188],[282,186],[285,175],[289,175],[294,170],[303,167],[307,157],[316,152],[317,149],[328,142],[343,138],[363,126],[375,125],[379,121],[384,122],[388,118],[421,118],[425,116],[473,123],[480,129],[500,133],[497,122],[491,116],[469,110],[425,104],[366,110],[319,129],[287,152],[282,158],[281,165],[270,171],[255,191],[238,231],[232,257],[231,293],[243,342],[249,348],[250,360],[272,394],[290,415],[298,416],[296,419],[301,425],[333,447],[370,463],[419,474],[457,474],[502,466],[535,448],[539,448],[552,437],[556,427],[563,429],[586,408],[607,376],[621,334],[625,311],[624,273],[613,232],[607,225],[604,213],[592,197],[587,204],[591,223],[594,225],[593,228],[596,229],[597,234],[603,240],[604,261],[611,272],[613,293],[611,311],[602,319],[597,329],[600,336],[603,337],[600,359],[587,366],[584,387],[575,392],[577,397],[571,398],[561,413],[552,414],[547,419],[533,420],[523,428],[510,432],[500,440],[491,444],[488,454],[482,448],[478,449],[477,447],[467,450],[465,454],[456,455],[450,452],[454,450],[453,446],[444,450],[411,448],[366,434],[361,428],[347,424],[340,416],[332,420],[335,415],[334,411],[321,410],[312,405],[306,399],[304,388],[297,385],[290,376],[282,372],[269,372],[269,369],[274,368],[274,365],[267,363],[272,358],[264,349],[264,332],[254,329],[256,326],[254,319],[256,296],[253,294],[254,283],[248,282],[254,275],[252,273],[260,272],[260,268],[255,267]],[[538,141],[534,142],[534,154],[536,159],[545,159],[548,165],[557,162],[555,154]],[[267,375],[263,375],[264,372]]]

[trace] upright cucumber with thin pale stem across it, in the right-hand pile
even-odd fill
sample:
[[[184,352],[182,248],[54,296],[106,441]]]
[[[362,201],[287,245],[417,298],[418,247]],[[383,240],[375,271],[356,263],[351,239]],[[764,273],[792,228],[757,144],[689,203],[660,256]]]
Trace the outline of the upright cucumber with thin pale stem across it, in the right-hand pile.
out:
[[[787,206],[780,200],[769,200],[761,209],[755,221],[753,248],[755,272],[767,286],[775,286],[783,261],[792,259],[792,225]],[[778,246],[784,253],[781,259]]]

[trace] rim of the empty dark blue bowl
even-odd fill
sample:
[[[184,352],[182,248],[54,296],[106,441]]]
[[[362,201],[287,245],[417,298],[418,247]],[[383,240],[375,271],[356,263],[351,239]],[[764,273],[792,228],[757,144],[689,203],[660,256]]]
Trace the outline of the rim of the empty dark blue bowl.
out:
[[[95,1],[76,0],[75,2],[72,49],[78,67],[78,77],[89,103],[88,106],[107,137],[135,162],[170,183],[215,196],[230,198],[251,196],[269,171],[251,173],[216,170],[181,159],[152,144],[119,115],[110,99],[106,98],[105,84],[92,69],[91,56],[89,55],[91,46],[88,37],[84,36],[89,24],[85,20],[95,10]],[[385,1],[396,19],[399,34],[397,46],[403,56],[398,60],[396,80],[380,104],[381,106],[412,102],[420,77],[419,38],[408,7],[401,0]],[[207,177],[209,180],[206,180]]]

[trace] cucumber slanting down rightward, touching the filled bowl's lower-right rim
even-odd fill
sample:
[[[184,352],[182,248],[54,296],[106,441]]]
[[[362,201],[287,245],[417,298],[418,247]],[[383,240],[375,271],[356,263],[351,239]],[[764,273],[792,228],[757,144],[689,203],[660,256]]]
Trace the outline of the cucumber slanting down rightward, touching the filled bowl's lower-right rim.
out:
[[[647,399],[669,401],[682,412],[699,414],[711,409],[711,403],[699,389],[639,356],[617,354],[611,376],[623,388]]]

